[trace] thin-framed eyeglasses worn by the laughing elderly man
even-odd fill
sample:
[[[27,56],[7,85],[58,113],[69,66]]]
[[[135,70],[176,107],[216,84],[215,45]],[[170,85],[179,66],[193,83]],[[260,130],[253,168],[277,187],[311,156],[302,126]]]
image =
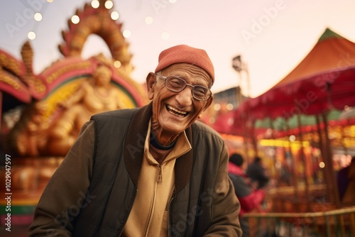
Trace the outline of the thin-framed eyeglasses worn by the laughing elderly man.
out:
[[[192,97],[198,101],[207,101],[209,97],[212,96],[212,92],[207,87],[202,87],[200,85],[193,86],[192,84],[187,84],[185,79],[176,76],[164,77],[163,75],[156,74],[157,76],[165,80],[165,87],[170,89],[172,92],[182,92],[186,86],[192,88]]]

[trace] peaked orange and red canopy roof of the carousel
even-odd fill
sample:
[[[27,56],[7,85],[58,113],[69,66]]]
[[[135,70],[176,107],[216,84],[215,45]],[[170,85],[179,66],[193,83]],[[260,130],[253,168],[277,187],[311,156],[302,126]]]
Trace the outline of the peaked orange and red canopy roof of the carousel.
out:
[[[236,117],[320,114],[355,105],[355,43],[327,28],[294,70],[259,97],[244,101]]]

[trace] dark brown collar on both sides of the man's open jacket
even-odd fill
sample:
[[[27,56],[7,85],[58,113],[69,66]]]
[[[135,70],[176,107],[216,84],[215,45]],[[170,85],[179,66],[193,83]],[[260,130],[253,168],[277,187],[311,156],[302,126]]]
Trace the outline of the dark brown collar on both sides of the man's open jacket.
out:
[[[144,155],[144,140],[146,139],[149,120],[152,116],[153,103],[143,106],[138,109],[133,116],[126,135],[126,142],[124,146],[124,162],[126,169],[131,176],[135,185],[138,183],[139,172],[141,171],[141,164]],[[179,192],[187,182],[190,180],[193,162],[193,143],[192,143],[192,129],[185,130],[187,139],[189,140],[192,150],[182,155],[175,162],[175,189]]]

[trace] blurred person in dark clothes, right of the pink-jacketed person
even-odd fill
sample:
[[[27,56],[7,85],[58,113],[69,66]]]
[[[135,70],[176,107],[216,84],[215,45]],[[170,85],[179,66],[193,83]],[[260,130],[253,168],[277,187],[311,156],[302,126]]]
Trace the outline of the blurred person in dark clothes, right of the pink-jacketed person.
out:
[[[258,156],[254,158],[253,162],[248,165],[246,169],[246,175],[251,178],[253,182],[256,183],[256,189],[261,189],[266,187],[269,181],[268,175],[264,170],[261,158]]]

